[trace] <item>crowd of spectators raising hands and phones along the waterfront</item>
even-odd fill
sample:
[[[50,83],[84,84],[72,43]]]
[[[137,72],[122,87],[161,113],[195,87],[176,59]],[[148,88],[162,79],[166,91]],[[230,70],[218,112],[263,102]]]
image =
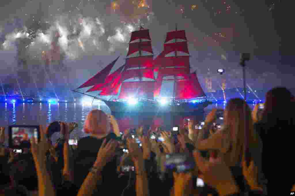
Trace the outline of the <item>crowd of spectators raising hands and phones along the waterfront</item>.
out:
[[[1,127],[0,195],[290,195],[294,101],[286,88],[273,88],[261,111],[234,98],[221,128],[213,109],[202,125],[191,119],[174,131],[119,130],[114,116],[92,110],[83,129],[90,136],[78,145],[68,142],[76,123],[53,122],[40,125],[40,141],[22,153],[4,146]],[[56,143],[54,132],[62,135]]]

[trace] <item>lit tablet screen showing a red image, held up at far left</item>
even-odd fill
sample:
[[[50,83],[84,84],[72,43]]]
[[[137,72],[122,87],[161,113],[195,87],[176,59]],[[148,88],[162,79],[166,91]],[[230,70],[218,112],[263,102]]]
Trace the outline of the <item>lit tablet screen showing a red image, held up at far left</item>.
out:
[[[38,140],[37,127],[12,127],[11,137],[13,146],[21,146],[21,144],[30,144],[30,139]]]

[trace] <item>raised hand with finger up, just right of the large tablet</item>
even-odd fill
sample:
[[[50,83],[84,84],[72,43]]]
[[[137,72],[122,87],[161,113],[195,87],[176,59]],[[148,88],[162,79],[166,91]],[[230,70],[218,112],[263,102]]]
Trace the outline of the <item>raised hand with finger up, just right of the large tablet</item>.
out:
[[[38,143],[35,138],[32,138],[31,141],[31,152],[36,164],[36,167],[45,166],[45,156],[46,152],[49,150],[50,145],[45,137],[45,130],[40,125],[40,142]]]

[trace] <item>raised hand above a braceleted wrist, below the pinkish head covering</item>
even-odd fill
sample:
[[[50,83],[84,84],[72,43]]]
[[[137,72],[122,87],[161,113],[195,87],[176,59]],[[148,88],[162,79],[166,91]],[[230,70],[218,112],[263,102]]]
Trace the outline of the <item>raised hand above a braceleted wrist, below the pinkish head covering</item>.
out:
[[[110,140],[108,143],[106,143],[106,139],[104,139],[97,153],[97,158],[94,166],[100,167],[100,169],[102,169],[106,165],[106,163],[112,161],[115,156],[115,150],[117,146],[117,141]]]

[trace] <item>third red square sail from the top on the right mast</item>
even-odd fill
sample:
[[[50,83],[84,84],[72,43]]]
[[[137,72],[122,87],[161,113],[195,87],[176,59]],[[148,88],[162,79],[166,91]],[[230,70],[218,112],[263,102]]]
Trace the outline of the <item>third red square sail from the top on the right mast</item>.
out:
[[[164,67],[187,67],[189,68],[189,56],[171,56],[159,58],[157,64]]]

